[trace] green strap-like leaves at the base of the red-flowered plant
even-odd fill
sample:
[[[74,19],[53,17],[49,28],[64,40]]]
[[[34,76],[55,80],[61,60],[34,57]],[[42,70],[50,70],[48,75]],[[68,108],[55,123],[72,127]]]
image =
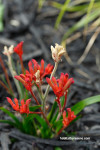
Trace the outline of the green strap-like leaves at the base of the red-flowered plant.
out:
[[[79,113],[84,109],[84,107],[89,106],[91,104],[100,102],[100,95],[93,96],[86,98],[77,104],[75,104],[71,110],[74,111],[75,115],[79,115]],[[61,104],[63,106],[64,104],[64,97],[61,98]],[[36,111],[39,107],[41,106],[33,106],[30,107],[31,111]],[[48,120],[50,123],[53,125],[52,128],[49,128],[48,124],[38,114],[29,114],[28,116],[23,114],[22,115],[22,121],[19,121],[19,119],[11,112],[9,112],[7,109],[0,107],[0,109],[8,114],[13,121],[10,120],[0,120],[1,123],[8,123],[11,126],[14,126],[21,130],[22,132],[34,136],[39,136],[42,138],[50,138],[55,135],[61,128],[62,128],[62,116],[60,117],[59,120],[57,120],[58,114],[59,114],[59,109],[57,107],[57,103],[55,102],[54,105],[52,106],[51,112],[48,114]],[[66,114],[66,116],[68,113]],[[73,124],[76,120],[80,118],[80,115],[76,117],[75,120],[71,122]],[[71,125],[70,124],[70,125]],[[55,130],[55,132],[54,132]]]

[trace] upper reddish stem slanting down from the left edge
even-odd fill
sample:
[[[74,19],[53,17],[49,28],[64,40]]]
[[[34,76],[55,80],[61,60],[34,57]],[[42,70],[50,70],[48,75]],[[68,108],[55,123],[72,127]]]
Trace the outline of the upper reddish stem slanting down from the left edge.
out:
[[[3,60],[2,60],[2,58],[1,58],[1,56],[0,56],[0,63],[1,63],[2,69],[3,69],[4,73],[5,73],[5,77],[6,77],[6,80],[7,80],[8,85],[9,85],[9,88],[10,88],[11,92],[14,93],[14,91],[13,91],[13,89],[12,89],[11,82],[10,82],[10,80],[9,80],[9,76],[8,76],[8,73],[7,73],[7,69],[6,69],[6,67],[5,67],[5,65],[4,65],[4,63],[3,63]]]

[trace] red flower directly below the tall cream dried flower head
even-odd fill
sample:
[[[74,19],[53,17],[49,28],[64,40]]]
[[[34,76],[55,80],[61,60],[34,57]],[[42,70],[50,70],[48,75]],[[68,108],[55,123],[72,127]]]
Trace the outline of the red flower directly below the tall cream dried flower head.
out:
[[[52,77],[52,80],[46,78],[48,84],[52,87],[57,99],[68,92],[68,88],[74,83],[73,78],[68,79],[68,74],[61,73],[60,79]]]

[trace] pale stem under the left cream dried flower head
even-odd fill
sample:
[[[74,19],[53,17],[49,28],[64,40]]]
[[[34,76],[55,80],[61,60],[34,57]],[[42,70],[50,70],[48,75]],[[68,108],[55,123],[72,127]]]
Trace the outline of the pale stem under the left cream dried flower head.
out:
[[[17,75],[17,73],[13,69],[12,62],[11,62],[11,56],[9,54],[8,54],[8,67],[9,67],[9,70],[10,70],[11,75],[13,77],[13,80],[15,82],[18,94],[19,94],[20,98],[22,98],[22,91],[21,91],[20,85],[19,85],[18,81],[14,78],[14,76]]]

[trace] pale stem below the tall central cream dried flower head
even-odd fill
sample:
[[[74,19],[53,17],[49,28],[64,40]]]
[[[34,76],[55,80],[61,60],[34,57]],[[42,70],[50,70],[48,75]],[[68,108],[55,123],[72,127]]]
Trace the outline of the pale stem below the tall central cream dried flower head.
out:
[[[55,75],[56,70],[57,70],[57,67],[58,67],[58,62],[55,62],[55,66],[54,66],[54,69],[53,69],[52,74],[51,74],[51,76],[50,76],[50,80],[51,80],[52,77]],[[47,89],[46,89],[46,92],[45,92],[45,95],[44,95],[44,98],[43,98],[43,112],[45,112],[46,98],[47,98],[47,96],[48,96],[49,89],[50,89],[50,85],[48,84]]]

